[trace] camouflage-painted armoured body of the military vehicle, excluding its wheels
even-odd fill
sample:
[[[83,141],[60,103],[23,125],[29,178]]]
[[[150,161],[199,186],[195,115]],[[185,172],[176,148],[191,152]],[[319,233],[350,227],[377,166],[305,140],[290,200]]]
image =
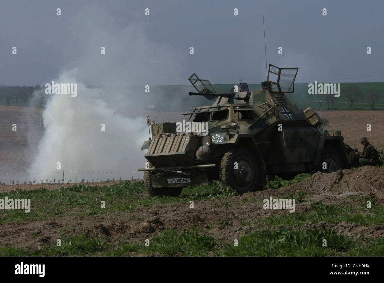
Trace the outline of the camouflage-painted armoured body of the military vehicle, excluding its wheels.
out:
[[[270,69],[271,66],[273,65],[270,65]],[[289,92],[293,92],[293,82]],[[268,80],[268,84],[270,89],[281,90],[278,82]],[[306,111],[309,110],[312,111]],[[237,112],[241,114],[239,118]],[[330,136],[327,131],[323,131],[321,126],[317,126],[322,123],[321,119],[313,111],[312,113],[308,119],[303,109],[291,104],[283,92],[262,90],[236,92],[232,96],[217,95],[213,105],[197,107],[194,112],[187,114],[187,118],[189,114],[190,118],[193,117],[190,121],[208,122],[212,144],[209,146],[210,157],[207,161],[199,161],[195,156],[195,152],[202,145],[199,134],[175,133],[176,123],[152,124],[153,139],[145,141],[142,146],[142,150],[149,149],[145,155],[148,164],[139,171],[151,170],[154,188],[205,185],[208,180],[220,179],[218,171],[222,157],[234,147],[247,148],[255,155],[260,175],[258,186],[274,179],[275,175],[290,179],[299,173],[316,172],[322,169],[324,161],[334,162],[335,166],[337,164],[336,169],[349,168],[350,161],[343,136]],[[316,126],[311,124],[313,119],[318,122]],[[238,124],[231,126],[232,123]],[[166,133],[163,130],[165,128]],[[332,161],[332,154],[323,156],[326,146],[336,149],[340,162]],[[321,160],[322,158],[325,159]],[[189,168],[202,164],[208,167]],[[180,173],[185,170],[190,175]],[[191,178],[191,183],[167,182],[169,178],[184,177]]]

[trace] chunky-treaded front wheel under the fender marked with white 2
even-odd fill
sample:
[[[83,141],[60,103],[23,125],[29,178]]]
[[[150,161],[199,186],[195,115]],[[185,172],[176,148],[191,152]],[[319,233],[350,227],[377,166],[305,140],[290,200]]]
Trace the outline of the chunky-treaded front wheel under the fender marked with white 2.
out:
[[[220,162],[219,174],[223,186],[231,186],[238,194],[253,192],[259,181],[256,157],[244,147],[230,149]]]

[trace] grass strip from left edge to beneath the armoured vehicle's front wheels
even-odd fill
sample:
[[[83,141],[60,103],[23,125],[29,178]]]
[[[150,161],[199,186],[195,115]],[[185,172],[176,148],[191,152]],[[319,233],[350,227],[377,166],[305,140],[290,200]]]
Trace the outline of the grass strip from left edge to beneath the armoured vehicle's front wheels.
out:
[[[31,199],[31,211],[8,210],[7,217],[0,218],[0,223],[13,221],[38,221],[52,216],[96,215],[114,211],[126,211],[137,207],[150,207],[156,204],[189,202],[191,200],[210,200],[234,196],[231,188],[223,189],[218,182],[210,182],[209,186],[196,186],[185,188],[180,197],[145,196],[144,181],[136,183],[122,182],[113,185],[90,186],[75,184],[68,188],[47,190],[45,188],[25,191],[17,189],[9,193],[0,193],[13,199]],[[105,201],[105,208],[101,208],[101,201]]]

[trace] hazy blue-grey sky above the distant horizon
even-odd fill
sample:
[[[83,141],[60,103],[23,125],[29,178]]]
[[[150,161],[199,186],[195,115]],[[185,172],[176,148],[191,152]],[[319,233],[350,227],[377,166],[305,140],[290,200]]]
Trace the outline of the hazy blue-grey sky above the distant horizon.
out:
[[[238,83],[240,75],[260,83],[266,79],[263,14],[268,64],[299,67],[296,82],[384,79],[382,1],[46,0],[0,5],[0,84],[43,86],[72,69],[87,85],[189,84],[194,72],[214,84]],[[277,53],[280,46],[283,54]]]

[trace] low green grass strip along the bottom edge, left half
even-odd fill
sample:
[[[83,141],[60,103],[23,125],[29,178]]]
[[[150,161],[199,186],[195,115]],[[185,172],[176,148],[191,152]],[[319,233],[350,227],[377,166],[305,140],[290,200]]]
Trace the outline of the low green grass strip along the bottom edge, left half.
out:
[[[49,248],[40,250],[0,248],[0,256],[124,256],[139,253],[147,255],[159,253],[166,256],[204,256],[220,255],[222,253],[215,238],[202,234],[196,229],[194,231],[184,230],[179,232],[174,230],[164,231],[154,236],[149,242],[149,246],[146,246],[145,241],[143,241],[140,244],[123,243],[113,247],[111,243],[102,242],[98,238],[93,239],[84,235],[63,239],[62,243],[59,247],[53,244]]]

